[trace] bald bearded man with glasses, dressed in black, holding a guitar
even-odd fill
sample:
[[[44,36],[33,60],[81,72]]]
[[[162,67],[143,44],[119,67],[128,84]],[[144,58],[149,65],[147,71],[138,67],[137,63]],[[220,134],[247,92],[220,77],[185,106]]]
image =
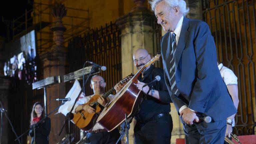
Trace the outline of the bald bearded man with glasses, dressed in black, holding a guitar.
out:
[[[141,69],[151,60],[150,54],[145,49],[137,49],[133,54],[133,61],[136,68]],[[157,75],[161,77],[160,81],[149,84],[142,89],[145,83],[151,82]],[[164,82],[164,71],[153,65],[146,67],[142,75],[138,78],[140,81],[136,84],[143,95],[150,90],[147,99],[141,104],[140,110],[135,115],[137,120],[134,127],[136,144],[170,144],[172,132],[171,97]],[[116,85],[117,92],[122,85]]]

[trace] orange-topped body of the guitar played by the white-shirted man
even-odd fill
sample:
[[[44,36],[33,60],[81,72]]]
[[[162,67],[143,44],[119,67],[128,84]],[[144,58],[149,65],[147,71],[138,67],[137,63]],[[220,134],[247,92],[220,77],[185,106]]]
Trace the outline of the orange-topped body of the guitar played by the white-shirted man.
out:
[[[92,103],[97,102],[98,97],[100,97],[100,95],[94,95],[89,102],[85,103],[90,105]],[[89,131],[93,128],[93,126],[96,123],[96,120],[100,114],[101,108],[99,106],[99,104],[96,105],[95,108],[95,112],[94,113],[88,113],[85,110],[81,110],[80,112],[77,112],[76,114],[74,114],[74,118],[73,118],[73,122],[76,126],[78,126],[80,129],[84,130],[84,131]],[[82,114],[81,114],[82,113]],[[84,117],[83,117],[83,116]]]

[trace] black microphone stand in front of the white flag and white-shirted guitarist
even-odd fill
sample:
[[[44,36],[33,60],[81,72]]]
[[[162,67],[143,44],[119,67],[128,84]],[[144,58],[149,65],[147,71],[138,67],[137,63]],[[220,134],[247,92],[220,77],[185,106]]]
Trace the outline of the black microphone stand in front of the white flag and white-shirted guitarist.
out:
[[[86,62],[85,62],[85,63],[86,63]],[[94,71],[94,68],[95,68],[95,66],[92,66],[92,69],[91,69],[90,73],[88,74],[88,76],[87,76],[87,78],[86,78],[86,81],[85,81],[85,83],[83,84],[83,87],[81,88],[81,90],[80,90],[78,96],[76,97],[75,102],[74,102],[74,104],[73,104],[73,106],[72,106],[70,112],[67,113],[66,118],[65,118],[65,121],[64,121],[64,124],[63,124],[63,126],[62,126],[62,128],[61,128],[61,130],[60,130],[60,132],[59,132],[59,136],[60,136],[60,134],[61,134],[61,132],[62,132],[62,130],[63,130],[65,124],[66,124],[66,120],[68,119],[69,144],[71,144],[70,120],[74,118],[74,114],[72,113],[72,111],[73,111],[73,109],[74,109],[74,107],[75,107],[75,104],[76,104],[76,102],[77,102],[77,100],[78,100],[80,94],[82,93],[82,91],[83,91],[83,89],[84,89],[84,87],[85,87],[85,84],[87,83],[89,77],[91,76],[92,72]],[[83,75],[84,75],[84,74],[83,74]]]

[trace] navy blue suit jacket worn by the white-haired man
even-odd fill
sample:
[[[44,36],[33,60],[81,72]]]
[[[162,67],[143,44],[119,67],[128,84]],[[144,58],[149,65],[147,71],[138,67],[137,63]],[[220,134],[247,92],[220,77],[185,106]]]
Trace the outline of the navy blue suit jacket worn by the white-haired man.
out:
[[[165,82],[179,111],[184,104],[174,97],[170,89],[170,38],[170,32],[161,38],[161,52]],[[177,88],[189,101],[190,109],[211,116],[214,121],[236,113],[217,67],[214,39],[205,22],[184,17],[175,53],[175,72]]]

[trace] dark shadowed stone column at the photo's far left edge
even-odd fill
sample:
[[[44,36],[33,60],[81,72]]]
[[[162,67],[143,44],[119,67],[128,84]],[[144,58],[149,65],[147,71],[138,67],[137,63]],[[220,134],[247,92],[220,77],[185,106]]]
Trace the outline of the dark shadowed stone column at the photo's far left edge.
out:
[[[4,58],[3,58],[3,49],[4,49],[4,38],[0,37],[0,101],[6,110],[9,110],[8,106],[8,95],[10,91],[11,81],[8,77],[4,76]],[[8,111],[9,112],[9,111]],[[7,113],[8,115],[8,113]],[[1,121],[1,117],[0,117]],[[1,124],[1,123],[0,123]],[[11,143],[8,136],[8,131],[11,131],[11,127],[5,114],[3,113],[3,131],[2,131],[2,143]]]

